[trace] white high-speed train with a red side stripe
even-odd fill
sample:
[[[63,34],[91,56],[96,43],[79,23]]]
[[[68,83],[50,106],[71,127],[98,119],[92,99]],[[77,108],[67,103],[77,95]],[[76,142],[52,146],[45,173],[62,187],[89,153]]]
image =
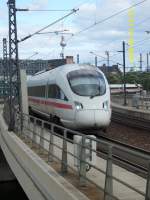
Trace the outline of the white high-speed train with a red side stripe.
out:
[[[30,76],[29,109],[72,129],[105,129],[111,120],[104,74],[89,65],[68,64]]]

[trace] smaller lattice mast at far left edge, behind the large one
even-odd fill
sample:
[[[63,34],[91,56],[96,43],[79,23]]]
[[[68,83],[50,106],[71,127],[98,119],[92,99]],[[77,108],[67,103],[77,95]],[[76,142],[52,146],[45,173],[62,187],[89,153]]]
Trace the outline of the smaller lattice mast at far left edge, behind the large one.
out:
[[[7,59],[7,40],[3,38],[3,96],[8,94],[8,59]]]

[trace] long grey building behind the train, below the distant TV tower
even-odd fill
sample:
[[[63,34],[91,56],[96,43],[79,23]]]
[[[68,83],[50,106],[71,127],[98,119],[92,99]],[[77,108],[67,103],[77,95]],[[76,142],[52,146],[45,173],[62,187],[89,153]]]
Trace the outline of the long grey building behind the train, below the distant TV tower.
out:
[[[3,75],[3,60],[0,59],[0,76]],[[66,56],[65,59],[52,59],[52,60],[19,60],[21,69],[25,69],[27,75],[33,75],[39,71],[45,69],[51,69],[64,64],[71,64],[73,62],[73,56]]]

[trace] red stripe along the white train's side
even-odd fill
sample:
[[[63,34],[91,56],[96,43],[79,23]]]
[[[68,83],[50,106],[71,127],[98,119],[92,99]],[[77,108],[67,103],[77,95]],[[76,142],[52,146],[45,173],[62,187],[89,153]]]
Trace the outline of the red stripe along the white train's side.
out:
[[[49,100],[43,100],[43,99],[35,99],[35,98],[28,98],[29,101],[32,101],[34,103],[38,104],[45,104],[45,105],[50,105],[56,108],[62,108],[62,109],[72,109],[72,105],[64,104],[64,103],[57,103],[54,101],[49,101]]]

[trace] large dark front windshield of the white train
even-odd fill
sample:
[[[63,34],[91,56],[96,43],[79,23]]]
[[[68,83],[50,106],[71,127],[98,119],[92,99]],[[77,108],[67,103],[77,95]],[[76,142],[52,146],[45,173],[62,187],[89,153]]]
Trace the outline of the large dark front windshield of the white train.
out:
[[[72,91],[80,96],[104,95],[106,84],[103,75],[96,70],[75,70],[67,75]]]

